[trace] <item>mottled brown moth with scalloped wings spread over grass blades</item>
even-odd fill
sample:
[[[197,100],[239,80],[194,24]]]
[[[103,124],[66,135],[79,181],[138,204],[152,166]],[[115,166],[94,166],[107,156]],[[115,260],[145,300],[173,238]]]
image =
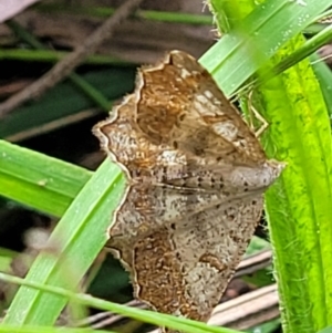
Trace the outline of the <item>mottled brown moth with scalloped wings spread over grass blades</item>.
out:
[[[180,51],[141,69],[135,92],[93,131],[127,179],[110,247],[135,296],[207,321],[284,164],[267,159],[211,75]]]

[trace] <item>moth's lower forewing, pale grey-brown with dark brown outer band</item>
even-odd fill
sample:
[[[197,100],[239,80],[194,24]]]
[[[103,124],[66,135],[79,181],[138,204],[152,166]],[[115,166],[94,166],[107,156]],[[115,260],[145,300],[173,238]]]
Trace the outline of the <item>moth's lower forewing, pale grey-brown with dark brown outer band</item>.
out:
[[[136,243],[137,298],[160,312],[207,321],[248,246],[261,208],[261,196],[222,210],[212,208]]]

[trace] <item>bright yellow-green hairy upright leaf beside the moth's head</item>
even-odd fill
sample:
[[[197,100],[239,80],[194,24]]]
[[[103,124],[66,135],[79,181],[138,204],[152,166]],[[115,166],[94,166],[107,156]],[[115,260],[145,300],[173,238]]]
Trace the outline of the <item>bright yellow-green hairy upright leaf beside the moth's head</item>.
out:
[[[276,61],[303,42],[293,40]],[[266,150],[288,163],[266,196],[284,331],[314,332],[332,321],[330,121],[308,60],[260,92],[271,124]]]

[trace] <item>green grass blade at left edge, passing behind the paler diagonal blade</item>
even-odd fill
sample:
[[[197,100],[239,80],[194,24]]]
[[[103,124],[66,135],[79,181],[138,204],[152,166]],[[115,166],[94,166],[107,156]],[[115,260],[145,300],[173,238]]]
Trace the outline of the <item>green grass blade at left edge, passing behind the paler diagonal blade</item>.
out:
[[[92,173],[0,141],[0,194],[61,217]]]

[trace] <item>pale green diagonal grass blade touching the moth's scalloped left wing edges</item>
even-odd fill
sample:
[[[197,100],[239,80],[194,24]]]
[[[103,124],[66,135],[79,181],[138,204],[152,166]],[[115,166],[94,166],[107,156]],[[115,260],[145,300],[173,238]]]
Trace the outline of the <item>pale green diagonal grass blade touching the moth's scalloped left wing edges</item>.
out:
[[[32,264],[28,281],[73,289],[107,239],[112,211],[124,190],[118,167],[105,162],[86,183],[52,232],[48,249]],[[64,298],[21,288],[4,318],[7,324],[53,324]]]

